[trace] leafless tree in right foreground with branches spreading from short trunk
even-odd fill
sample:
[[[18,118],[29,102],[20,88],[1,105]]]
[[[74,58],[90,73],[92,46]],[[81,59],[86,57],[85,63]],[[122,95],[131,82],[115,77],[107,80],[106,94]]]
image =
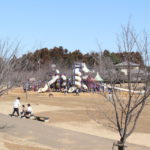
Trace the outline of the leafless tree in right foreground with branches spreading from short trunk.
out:
[[[125,143],[127,138],[135,130],[139,117],[148,102],[150,95],[150,89],[148,87],[149,74],[147,71],[147,65],[149,64],[148,58],[148,35],[144,33],[141,39],[139,35],[135,33],[135,30],[128,24],[126,27],[122,27],[122,34],[118,37],[119,52],[126,52],[127,63],[127,86],[126,89],[116,87],[116,83],[119,82],[119,75],[114,77],[111,69],[107,66],[107,76],[110,79],[109,88],[111,88],[111,99],[108,97],[108,93],[103,93],[103,96],[108,99],[113,109],[113,117],[104,113],[105,117],[111,122],[111,127],[115,128],[119,135],[120,140],[113,145],[118,147],[118,150],[125,150]],[[139,67],[136,75],[132,73],[131,52],[138,51],[143,56],[144,67]],[[133,60],[133,59],[132,59]],[[142,79],[140,72],[143,72]],[[116,74],[115,74],[116,76]],[[134,82],[132,78],[134,77]],[[139,84],[139,80],[142,81],[142,86]],[[120,82],[123,84],[123,82]],[[140,87],[141,86],[141,87]],[[122,85],[123,87],[123,85]],[[139,90],[140,89],[140,90]],[[124,91],[124,92],[123,92]],[[125,95],[123,95],[125,93]]]

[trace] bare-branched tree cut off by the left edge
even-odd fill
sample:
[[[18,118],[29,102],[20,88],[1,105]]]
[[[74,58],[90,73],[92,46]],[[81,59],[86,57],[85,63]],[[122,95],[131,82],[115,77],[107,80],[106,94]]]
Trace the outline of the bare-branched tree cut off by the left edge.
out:
[[[14,85],[11,75],[13,73],[15,56],[20,42],[0,41],[0,96]]]

